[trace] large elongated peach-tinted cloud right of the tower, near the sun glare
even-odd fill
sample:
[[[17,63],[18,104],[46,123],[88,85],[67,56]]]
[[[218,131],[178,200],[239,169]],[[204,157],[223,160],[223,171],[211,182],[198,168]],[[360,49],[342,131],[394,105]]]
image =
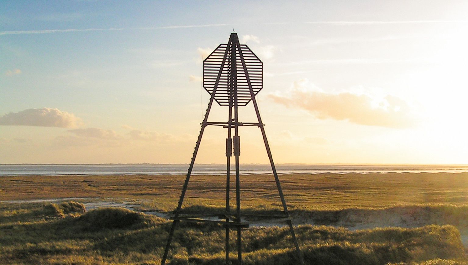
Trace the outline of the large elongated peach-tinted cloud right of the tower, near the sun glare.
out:
[[[310,88],[307,79],[295,82],[287,95],[270,94],[268,97],[286,107],[306,110],[318,119],[391,128],[409,127],[414,123],[409,105],[401,98],[391,95],[377,98],[348,91],[326,93]]]

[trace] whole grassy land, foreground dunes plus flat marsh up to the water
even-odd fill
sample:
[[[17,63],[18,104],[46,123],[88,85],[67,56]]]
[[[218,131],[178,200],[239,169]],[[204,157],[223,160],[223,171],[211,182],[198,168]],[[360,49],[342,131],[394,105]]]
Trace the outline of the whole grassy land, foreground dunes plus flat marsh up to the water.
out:
[[[169,211],[176,206],[183,179],[1,177],[0,201],[85,197],[81,201],[129,202],[141,210]],[[307,264],[468,264],[462,245],[468,174],[288,174],[280,179],[295,223],[355,226],[296,228]],[[222,209],[224,185],[224,176],[193,176],[185,209]],[[242,175],[241,185],[245,210],[280,209],[272,176]],[[235,193],[231,195],[234,199]],[[384,228],[355,230],[366,224]],[[223,229],[182,225],[170,264],[222,264]],[[165,219],[125,209],[83,212],[73,203],[3,202],[0,264],[159,264],[168,228]],[[245,264],[297,264],[285,228],[252,227],[242,235]]]

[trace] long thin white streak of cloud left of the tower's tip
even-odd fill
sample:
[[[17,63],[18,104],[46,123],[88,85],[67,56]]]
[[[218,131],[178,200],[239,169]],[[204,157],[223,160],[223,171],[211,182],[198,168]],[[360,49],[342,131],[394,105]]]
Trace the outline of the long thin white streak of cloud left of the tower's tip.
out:
[[[67,29],[41,29],[41,30],[10,30],[0,31],[0,35],[18,35],[18,34],[51,34],[60,32],[83,32],[83,31],[116,31],[116,30],[145,30],[145,29],[170,29],[170,28],[207,28],[226,26],[227,24],[207,24],[207,25],[181,25],[181,26],[162,26],[146,28],[67,28]]]

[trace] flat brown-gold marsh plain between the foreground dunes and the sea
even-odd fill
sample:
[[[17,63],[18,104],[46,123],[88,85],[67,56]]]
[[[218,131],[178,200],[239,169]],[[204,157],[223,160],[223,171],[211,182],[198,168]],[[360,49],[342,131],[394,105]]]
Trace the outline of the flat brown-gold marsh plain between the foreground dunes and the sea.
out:
[[[285,174],[280,175],[291,210],[382,208],[401,204],[468,204],[468,173]],[[7,176],[0,178],[0,201],[86,197],[139,202],[141,209],[176,207],[185,176]],[[231,178],[234,180],[234,177]],[[194,175],[184,207],[224,207],[225,176]],[[234,181],[231,187],[235,187]],[[234,190],[233,190],[234,191]],[[231,192],[235,202],[235,192]],[[245,209],[281,209],[271,175],[241,175]]]

